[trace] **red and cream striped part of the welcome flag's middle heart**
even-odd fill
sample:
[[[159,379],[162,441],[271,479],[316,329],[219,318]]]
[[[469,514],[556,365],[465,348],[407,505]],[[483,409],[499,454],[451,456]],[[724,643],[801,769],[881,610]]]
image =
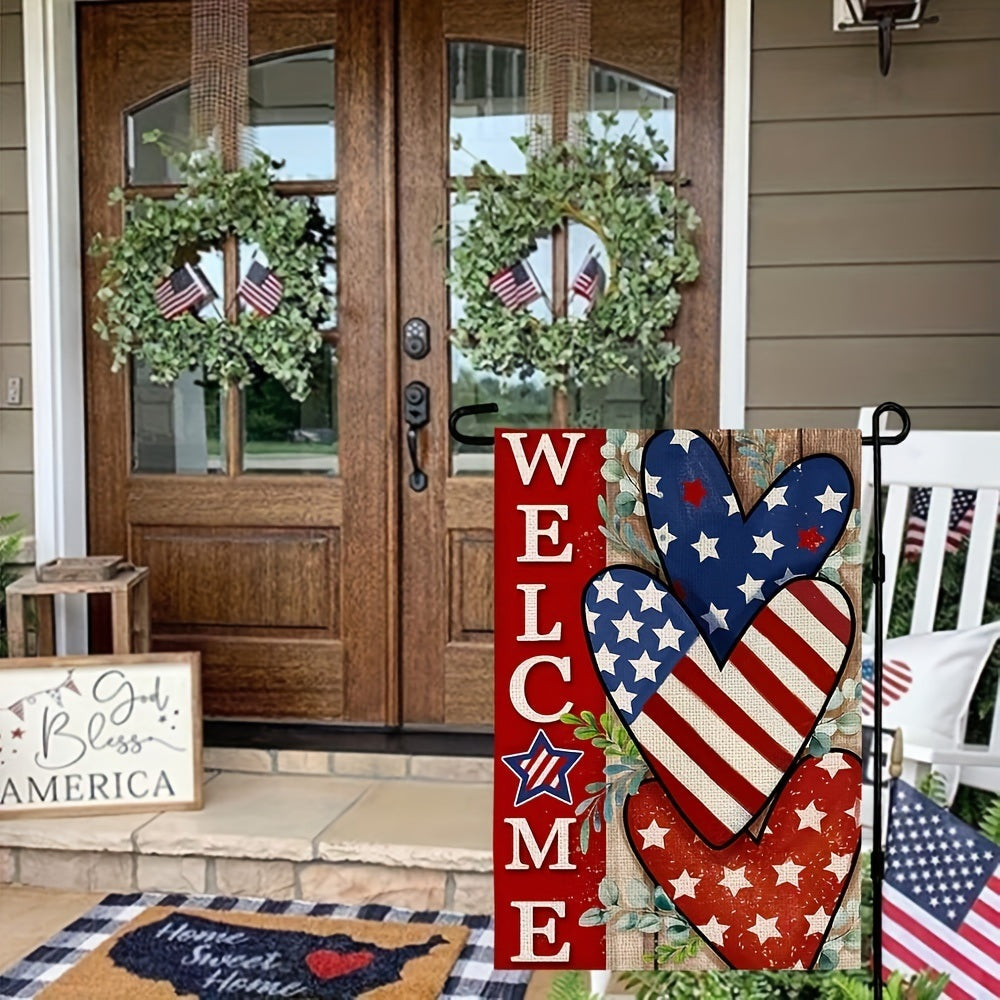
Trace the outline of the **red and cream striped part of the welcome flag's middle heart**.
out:
[[[796,580],[758,611],[724,669],[699,637],[646,700],[632,733],[708,843],[731,842],[763,809],[836,686],[851,636],[842,592]]]

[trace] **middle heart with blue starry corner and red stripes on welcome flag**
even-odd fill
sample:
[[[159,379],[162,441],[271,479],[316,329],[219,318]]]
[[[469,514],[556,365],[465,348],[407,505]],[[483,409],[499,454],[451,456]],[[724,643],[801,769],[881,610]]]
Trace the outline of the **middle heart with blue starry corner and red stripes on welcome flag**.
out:
[[[684,607],[642,570],[584,592],[598,677],[657,780],[714,847],[738,838],[802,752],[854,637],[846,594],[795,580],[756,613],[720,670]]]

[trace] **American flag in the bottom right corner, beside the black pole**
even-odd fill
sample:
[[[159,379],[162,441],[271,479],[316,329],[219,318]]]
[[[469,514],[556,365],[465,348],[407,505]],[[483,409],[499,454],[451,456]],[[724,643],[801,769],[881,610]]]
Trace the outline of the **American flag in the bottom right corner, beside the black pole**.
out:
[[[886,859],[886,978],[946,972],[951,1000],[1000,997],[1000,847],[896,780]]]

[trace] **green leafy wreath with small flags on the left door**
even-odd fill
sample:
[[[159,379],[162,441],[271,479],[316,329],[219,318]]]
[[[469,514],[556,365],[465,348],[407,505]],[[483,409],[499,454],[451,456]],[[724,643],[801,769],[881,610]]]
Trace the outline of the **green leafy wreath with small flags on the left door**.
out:
[[[158,141],[151,133],[146,141]],[[325,270],[333,263],[333,227],[315,199],[286,198],[274,189],[277,164],[261,152],[238,170],[225,171],[218,157],[201,150],[167,154],[183,178],[176,198],[139,194],[128,199],[122,234],[97,235],[90,252],[107,258],[97,298],[104,306],[94,329],[110,341],[112,369],[129,357],[141,361],[154,382],[170,383],[201,367],[209,382],[247,385],[260,374],[276,378],[298,400],[309,394],[319,330],[330,322],[333,292]],[[111,204],[123,204],[122,190]],[[193,312],[167,319],[155,289],[178,267],[197,263],[203,250],[227,237],[254,244],[282,284],[270,315],[241,310],[235,321]]]

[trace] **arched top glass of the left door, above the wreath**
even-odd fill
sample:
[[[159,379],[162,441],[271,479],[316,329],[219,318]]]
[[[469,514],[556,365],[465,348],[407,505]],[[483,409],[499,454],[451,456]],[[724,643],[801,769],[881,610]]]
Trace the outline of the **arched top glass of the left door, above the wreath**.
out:
[[[262,59],[250,67],[248,146],[281,164],[279,180],[332,180],[336,176],[333,49]],[[191,89],[182,87],[126,116],[129,184],[177,184],[176,167],[159,147],[143,142],[159,131],[168,148],[191,143]]]

